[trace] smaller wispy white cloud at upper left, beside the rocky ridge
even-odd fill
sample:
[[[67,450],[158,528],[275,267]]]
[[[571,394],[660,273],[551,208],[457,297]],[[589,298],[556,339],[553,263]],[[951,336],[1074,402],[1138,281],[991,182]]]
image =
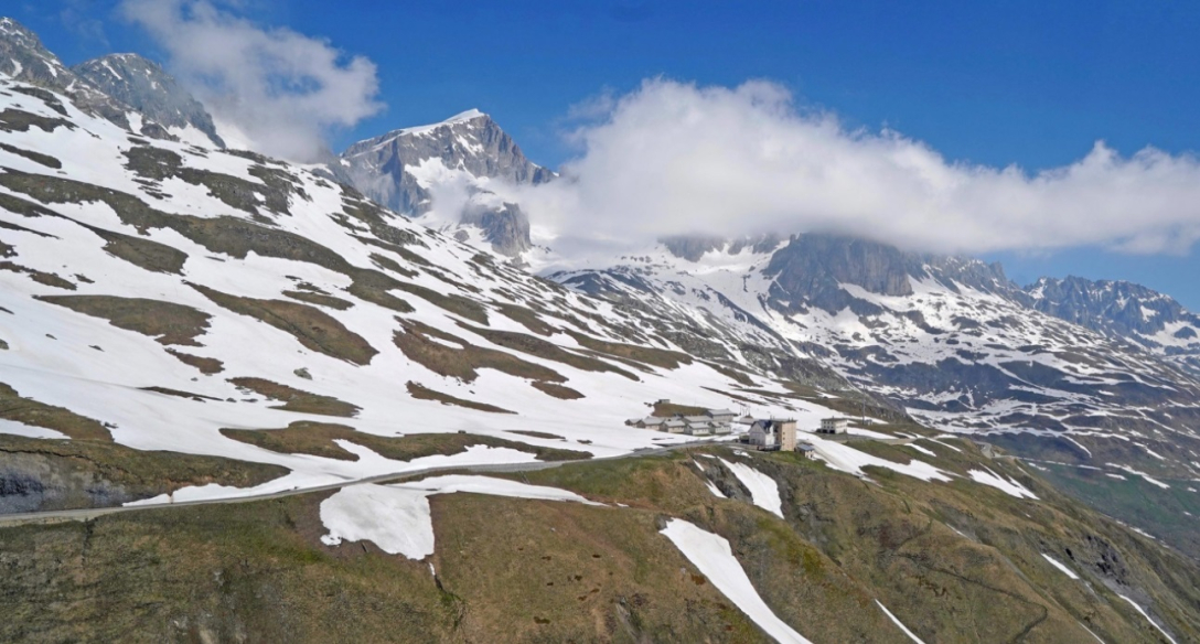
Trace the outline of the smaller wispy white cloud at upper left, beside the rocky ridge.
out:
[[[326,41],[264,29],[209,0],[124,0],[121,12],[170,56],[169,68],[218,122],[256,150],[313,161],[325,136],[383,106],[376,66]]]

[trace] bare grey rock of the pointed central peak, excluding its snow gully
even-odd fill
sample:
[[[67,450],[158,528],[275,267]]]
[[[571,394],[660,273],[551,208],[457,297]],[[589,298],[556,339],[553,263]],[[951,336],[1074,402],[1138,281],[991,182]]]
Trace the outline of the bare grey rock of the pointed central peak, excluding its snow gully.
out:
[[[433,198],[418,181],[418,174],[433,161],[473,177],[511,183],[536,185],[554,176],[527,160],[512,137],[476,110],[442,124],[396,130],[356,143],[331,164],[331,171],[344,176],[374,201],[403,215],[420,216],[433,206]],[[461,223],[481,227],[499,253],[512,255],[530,247],[528,221],[520,207],[504,204],[486,217],[485,210],[478,203],[468,203]]]

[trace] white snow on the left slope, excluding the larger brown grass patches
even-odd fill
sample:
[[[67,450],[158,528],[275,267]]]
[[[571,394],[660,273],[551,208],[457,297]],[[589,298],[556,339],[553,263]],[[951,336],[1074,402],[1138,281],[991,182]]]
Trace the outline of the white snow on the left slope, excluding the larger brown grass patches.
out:
[[[647,414],[650,401],[672,398],[710,408],[740,404],[720,393],[737,389],[738,381],[698,360],[686,359],[671,367],[617,355],[626,350],[622,347],[678,351],[644,320],[604,300],[514,270],[476,248],[386,211],[379,211],[383,217],[379,223],[348,217],[348,209],[360,207],[360,201],[311,168],[193,145],[197,142],[132,138],[130,132],[79,112],[65,98],[60,98],[67,113],[62,116],[40,98],[2,91],[16,85],[0,78],[0,110],[17,110],[55,125],[47,126],[49,131],[31,126],[25,132],[2,132],[0,138],[29,154],[54,157],[62,167],[52,170],[29,154],[0,150],[0,198],[52,212],[30,216],[0,207],[4,227],[0,242],[5,245],[0,252],[19,266],[0,271],[4,285],[0,341],[7,345],[0,350],[0,381],[22,397],[104,423],[113,440],[128,447],[270,463],[292,473],[256,488],[210,484],[142,502],[258,495],[442,464],[466,467],[534,459],[532,453],[515,449],[476,446],[449,457],[402,462],[385,458],[354,440],[342,440],[338,445],[356,461],[340,461],[268,451],[227,438],[220,432],[222,428],[276,429],[310,421],[338,423],[378,437],[467,432],[611,457],[696,440],[626,427],[624,420]],[[155,179],[152,173],[148,175],[145,169],[134,167],[130,155],[146,150],[175,160],[180,168],[176,175]],[[205,181],[211,185],[197,183],[200,180],[193,179],[194,174],[179,174],[184,171],[209,173],[206,176],[212,179]],[[18,176],[17,173],[78,181],[91,186],[88,189],[118,191],[164,218],[191,217],[188,221],[196,223],[190,224],[192,228],[156,224],[139,229],[100,197],[40,201],[38,194],[5,181]],[[264,173],[286,177],[284,187],[278,188],[283,191],[286,212],[271,210],[270,204],[276,201],[264,194],[278,183],[272,188],[262,179],[268,176]],[[214,192],[217,188],[212,186],[220,187],[220,182],[238,182],[247,191],[263,192],[251,192],[254,199],[240,204]],[[259,239],[268,241],[258,247],[251,242],[245,252],[234,252],[222,245],[240,247],[244,237],[211,241],[188,233],[202,222],[220,217],[253,223],[262,231]],[[113,234],[170,248],[179,253],[181,265],[173,272],[122,259],[104,236]],[[312,251],[304,255],[293,251],[295,243],[272,245],[272,239],[283,239],[272,235],[307,240],[305,243],[310,246],[304,248]],[[71,258],[68,269],[64,258]],[[395,284],[385,294],[402,299],[412,311],[389,308],[378,303],[379,299],[359,296],[353,271],[367,270]],[[306,344],[294,332],[230,311],[214,301],[208,295],[211,291],[306,306],[360,337],[373,355],[349,360],[338,355],[336,348]],[[295,294],[301,291],[335,297],[344,305],[335,308],[296,301]],[[137,330],[37,299],[64,295],[182,305],[206,315],[206,326],[193,341],[164,347]],[[452,348],[463,357],[472,351],[508,355],[522,367],[506,373],[484,366],[470,379],[443,375],[397,347],[394,338],[404,335],[402,324],[425,325],[458,338],[448,341],[431,332],[426,335],[430,345]],[[499,332],[535,338],[564,351],[557,355],[565,357],[498,344],[490,333]],[[581,338],[589,347],[581,344]],[[617,349],[606,350],[607,345]],[[221,371],[200,373],[168,349],[194,359],[217,360]],[[583,362],[584,359],[593,362]],[[552,373],[558,384],[581,397],[552,396],[532,386],[533,378],[514,375],[524,372]],[[283,410],[280,401],[241,389],[229,381],[234,378],[268,380],[359,410],[352,417]],[[752,378],[764,391],[779,390],[769,378]],[[409,383],[461,403],[414,397]],[[163,393],[164,390],[178,395]],[[755,408],[762,414],[793,413],[773,399],[740,396],[756,399]],[[515,414],[464,404],[491,405]],[[817,404],[800,408],[808,419],[830,413]],[[0,422],[0,433],[62,438],[52,429],[12,421]],[[560,438],[541,438],[542,434]]]

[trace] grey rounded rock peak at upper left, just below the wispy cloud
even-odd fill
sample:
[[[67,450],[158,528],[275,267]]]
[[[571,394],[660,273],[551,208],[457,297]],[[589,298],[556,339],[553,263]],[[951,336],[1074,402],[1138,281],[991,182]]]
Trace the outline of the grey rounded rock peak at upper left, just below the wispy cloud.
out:
[[[204,106],[152,61],[137,54],[112,54],[80,62],[71,71],[160,125],[194,127],[224,148]]]

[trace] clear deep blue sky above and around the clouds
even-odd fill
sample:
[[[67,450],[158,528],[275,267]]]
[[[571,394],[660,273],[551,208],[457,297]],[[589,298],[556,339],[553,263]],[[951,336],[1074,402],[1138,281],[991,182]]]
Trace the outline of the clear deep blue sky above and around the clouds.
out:
[[[386,109],[338,132],[335,148],[476,107],[534,161],[557,165],[574,152],[562,137],[571,106],[661,76],[726,86],[770,79],[805,106],[894,128],[952,162],[1033,171],[1074,162],[1098,139],[1124,155],[1200,150],[1200,5],[1190,2],[236,5],[256,23],[326,38],[378,66]],[[120,50],[164,58],[115,7],[41,0],[6,11],[68,64]],[[1200,309],[1194,251],[988,258],[1019,282],[1128,278]]]

